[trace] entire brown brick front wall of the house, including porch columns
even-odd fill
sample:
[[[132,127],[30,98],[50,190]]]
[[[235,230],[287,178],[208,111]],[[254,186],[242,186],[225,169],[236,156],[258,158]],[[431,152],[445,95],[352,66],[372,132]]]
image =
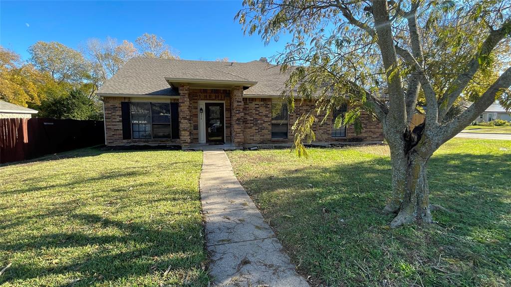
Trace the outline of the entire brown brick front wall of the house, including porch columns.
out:
[[[179,119],[181,139],[122,139],[121,102],[129,102],[130,98],[105,97],[106,145],[171,145],[181,144],[184,148],[199,141],[198,101],[225,101],[225,131],[226,141],[243,144],[275,144],[292,143],[291,127],[298,116],[314,109],[314,103],[296,103],[295,111],[289,114],[288,139],[271,139],[271,102],[269,98],[241,98],[242,89],[189,89],[188,86],[179,89]],[[237,97],[235,103],[232,100]],[[240,101],[241,100],[241,101]],[[177,102],[178,100],[169,100]],[[150,99],[148,99],[150,102]],[[231,113],[231,109],[234,111]],[[356,135],[353,125],[346,129],[346,137],[332,137],[332,115],[320,125],[320,120],[314,124],[316,142],[353,142],[383,140],[381,124],[372,120],[368,114],[362,114],[364,126],[362,134]],[[238,124],[236,124],[238,123]],[[187,128],[188,127],[188,128]],[[188,139],[187,139],[188,138]],[[185,139],[185,143],[182,143]]]

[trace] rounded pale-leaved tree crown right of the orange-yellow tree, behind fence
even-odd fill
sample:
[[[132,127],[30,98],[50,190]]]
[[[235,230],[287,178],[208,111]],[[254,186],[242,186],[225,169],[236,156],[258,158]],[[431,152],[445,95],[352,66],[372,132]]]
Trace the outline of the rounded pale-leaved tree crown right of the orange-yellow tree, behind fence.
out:
[[[59,42],[38,41],[29,47],[30,61],[58,82],[81,82],[90,72],[83,55]]]

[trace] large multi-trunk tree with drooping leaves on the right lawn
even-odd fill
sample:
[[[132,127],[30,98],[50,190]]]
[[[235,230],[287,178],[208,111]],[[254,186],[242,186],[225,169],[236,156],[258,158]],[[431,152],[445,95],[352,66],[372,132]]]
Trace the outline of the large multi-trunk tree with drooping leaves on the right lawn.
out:
[[[378,118],[392,166],[384,211],[396,214],[390,226],[398,227],[432,222],[431,155],[496,99],[511,107],[511,66],[503,54],[510,14],[509,3],[491,0],[245,0],[237,18],[266,43],[292,35],[275,57],[290,75],[283,96],[291,109],[295,97],[317,103],[293,127],[299,153],[314,139],[311,126],[321,112],[348,104],[336,123],[358,131],[362,112]],[[421,98],[425,122],[412,130]],[[460,99],[472,104],[451,115]]]

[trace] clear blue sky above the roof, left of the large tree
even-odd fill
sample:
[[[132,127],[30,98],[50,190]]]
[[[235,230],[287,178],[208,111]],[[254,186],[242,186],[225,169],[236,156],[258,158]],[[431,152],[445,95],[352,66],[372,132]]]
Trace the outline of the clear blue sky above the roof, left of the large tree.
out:
[[[246,62],[282,51],[289,37],[265,46],[244,36],[234,16],[241,1],[1,1],[0,44],[27,60],[36,41],[77,49],[88,38],[120,41],[156,34],[182,59]]]

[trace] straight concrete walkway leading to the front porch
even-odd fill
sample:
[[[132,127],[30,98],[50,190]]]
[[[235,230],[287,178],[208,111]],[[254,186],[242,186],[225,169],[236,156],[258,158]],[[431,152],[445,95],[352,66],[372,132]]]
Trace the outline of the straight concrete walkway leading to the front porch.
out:
[[[223,150],[204,151],[200,194],[215,286],[309,286],[236,179]]]

